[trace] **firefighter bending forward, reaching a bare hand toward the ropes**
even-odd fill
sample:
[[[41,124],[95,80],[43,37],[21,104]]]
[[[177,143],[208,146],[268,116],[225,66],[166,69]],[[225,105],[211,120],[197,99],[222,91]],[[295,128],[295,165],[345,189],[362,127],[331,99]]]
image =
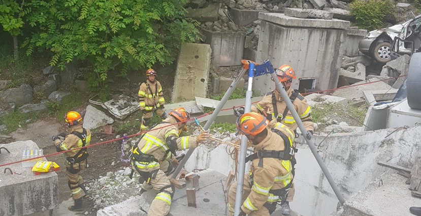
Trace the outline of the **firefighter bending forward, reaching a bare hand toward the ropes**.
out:
[[[179,137],[189,118],[190,114],[182,107],[172,110],[168,118],[152,127],[163,128],[143,134],[137,146],[132,147],[132,169],[144,180],[140,193],[150,188],[159,191],[149,207],[149,216],[167,215],[175,192],[174,185],[165,174],[168,168],[161,166],[168,166],[166,160],[173,159],[176,149],[196,148],[209,136],[202,132],[198,137]]]

